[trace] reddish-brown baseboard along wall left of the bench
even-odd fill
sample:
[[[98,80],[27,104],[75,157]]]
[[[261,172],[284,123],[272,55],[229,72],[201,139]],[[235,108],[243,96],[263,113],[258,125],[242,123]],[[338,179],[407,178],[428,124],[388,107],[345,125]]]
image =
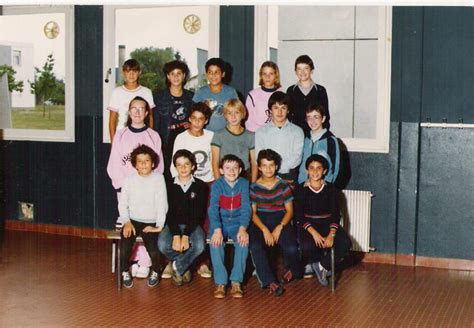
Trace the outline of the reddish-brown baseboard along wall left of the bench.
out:
[[[30,223],[19,220],[5,220],[5,230],[41,232],[86,238],[107,238],[107,230],[104,229],[82,228],[47,223]]]

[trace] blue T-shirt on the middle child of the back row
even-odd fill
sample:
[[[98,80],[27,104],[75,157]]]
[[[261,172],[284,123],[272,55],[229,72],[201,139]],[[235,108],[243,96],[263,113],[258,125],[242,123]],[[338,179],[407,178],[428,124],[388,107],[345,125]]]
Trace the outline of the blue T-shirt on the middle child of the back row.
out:
[[[207,102],[212,110],[212,116],[206,126],[207,130],[218,131],[223,129],[227,122],[224,118],[224,103],[229,99],[239,99],[234,88],[223,84],[219,93],[213,93],[208,85],[205,85],[194,94],[193,101]]]

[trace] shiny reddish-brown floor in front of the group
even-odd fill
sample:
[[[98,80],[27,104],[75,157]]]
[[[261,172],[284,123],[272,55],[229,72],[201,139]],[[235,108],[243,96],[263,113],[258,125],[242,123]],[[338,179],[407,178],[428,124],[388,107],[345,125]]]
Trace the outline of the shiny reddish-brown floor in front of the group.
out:
[[[275,298],[255,278],[245,297],[212,297],[196,277],[118,291],[107,240],[7,231],[0,244],[0,327],[474,327],[474,272],[357,264],[336,293],[316,279]]]

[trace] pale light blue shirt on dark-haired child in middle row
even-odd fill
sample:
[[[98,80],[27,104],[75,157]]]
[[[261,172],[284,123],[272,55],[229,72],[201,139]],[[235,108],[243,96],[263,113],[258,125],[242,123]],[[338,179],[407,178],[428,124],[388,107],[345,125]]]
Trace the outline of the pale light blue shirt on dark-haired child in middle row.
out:
[[[286,174],[301,163],[303,130],[286,120],[281,128],[269,122],[255,132],[255,155],[262,149],[272,149],[281,156],[279,173]]]

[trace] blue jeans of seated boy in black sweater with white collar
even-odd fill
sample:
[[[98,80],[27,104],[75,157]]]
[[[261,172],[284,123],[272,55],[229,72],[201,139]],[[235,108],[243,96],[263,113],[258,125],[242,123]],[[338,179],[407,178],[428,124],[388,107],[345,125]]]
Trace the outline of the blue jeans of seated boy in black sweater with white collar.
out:
[[[186,225],[184,224],[179,225],[181,232],[184,231],[185,227]],[[183,253],[173,250],[173,235],[168,225],[164,227],[158,238],[158,248],[160,252],[170,261],[176,261],[176,271],[180,275],[183,275],[193,264],[194,260],[204,251],[204,232],[201,227],[198,226],[191,232],[189,244],[189,249]]]

